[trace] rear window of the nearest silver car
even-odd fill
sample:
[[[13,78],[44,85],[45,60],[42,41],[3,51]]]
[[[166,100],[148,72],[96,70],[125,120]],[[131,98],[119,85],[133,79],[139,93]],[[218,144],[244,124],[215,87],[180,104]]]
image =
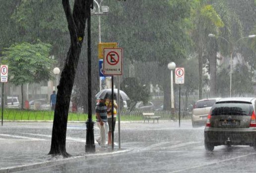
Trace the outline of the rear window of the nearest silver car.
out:
[[[253,104],[248,102],[219,102],[211,109],[211,116],[216,115],[245,115],[251,116]]]

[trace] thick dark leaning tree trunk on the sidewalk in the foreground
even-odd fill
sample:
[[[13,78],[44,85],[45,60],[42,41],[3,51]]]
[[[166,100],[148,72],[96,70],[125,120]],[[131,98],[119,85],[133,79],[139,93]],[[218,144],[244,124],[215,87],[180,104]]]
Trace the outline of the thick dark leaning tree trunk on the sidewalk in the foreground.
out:
[[[86,3],[89,2],[91,2],[91,0],[75,0],[72,13],[69,0],[62,0],[70,34],[70,47],[67,52],[64,69],[58,85],[52,143],[51,150],[49,152],[49,154],[52,155],[63,155],[64,157],[69,156],[65,148],[68,108],[84,38],[84,29],[87,19]]]

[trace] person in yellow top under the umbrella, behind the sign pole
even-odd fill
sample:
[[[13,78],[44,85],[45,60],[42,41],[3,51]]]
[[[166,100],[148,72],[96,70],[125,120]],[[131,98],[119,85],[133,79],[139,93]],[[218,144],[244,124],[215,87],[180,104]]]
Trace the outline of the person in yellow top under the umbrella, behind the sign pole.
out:
[[[118,105],[116,101],[114,100],[114,119],[112,121],[112,100],[108,100],[108,105],[107,105],[107,117],[108,117],[108,125],[109,125],[109,131],[108,131],[108,145],[112,144],[112,132],[114,133],[115,131],[115,126],[116,126],[116,118],[117,118],[117,108]],[[113,124],[114,123],[114,124]]]

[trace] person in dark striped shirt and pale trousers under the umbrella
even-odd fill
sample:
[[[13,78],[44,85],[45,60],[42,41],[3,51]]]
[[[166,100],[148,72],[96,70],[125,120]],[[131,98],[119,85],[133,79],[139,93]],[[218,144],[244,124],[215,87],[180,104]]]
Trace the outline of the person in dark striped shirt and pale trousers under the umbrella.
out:
[[[96,141],[101,147],[105,147],[106,145],[106,130],[105,126],[107,123],[107,106],[105,104],[105,100],[100,98],[99,102],[96,104],[96,119],[97,125],[100,129],[100,136]]]

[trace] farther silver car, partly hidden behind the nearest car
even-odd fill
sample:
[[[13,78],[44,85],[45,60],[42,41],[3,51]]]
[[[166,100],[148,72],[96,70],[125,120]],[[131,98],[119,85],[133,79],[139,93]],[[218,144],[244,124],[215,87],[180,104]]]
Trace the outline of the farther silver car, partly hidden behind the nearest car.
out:
[[[198,100],[192,110],[192,126],[204,126],[212,105],[220,98],[207,98]]]

